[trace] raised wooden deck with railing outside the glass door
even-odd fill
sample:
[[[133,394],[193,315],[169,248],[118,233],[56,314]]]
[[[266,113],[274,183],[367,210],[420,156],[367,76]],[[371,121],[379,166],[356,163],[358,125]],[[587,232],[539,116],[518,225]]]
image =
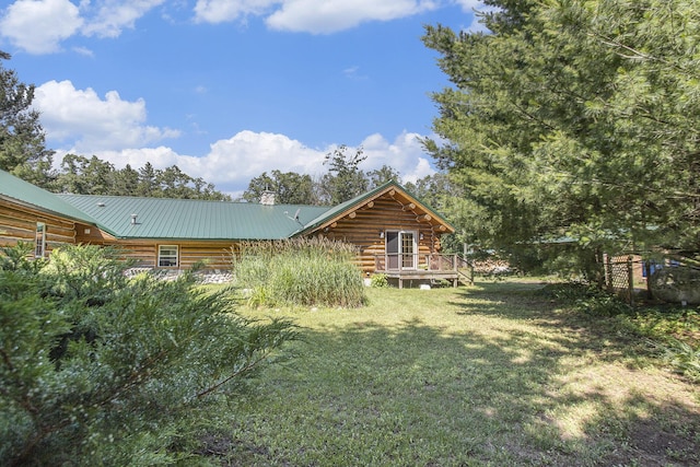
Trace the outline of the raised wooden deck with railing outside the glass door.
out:
[[[459,255],[376,255],[374,271],[397,279],[399,289],[405,281],[446,280],[453,287],[474,282],[471,265]]]

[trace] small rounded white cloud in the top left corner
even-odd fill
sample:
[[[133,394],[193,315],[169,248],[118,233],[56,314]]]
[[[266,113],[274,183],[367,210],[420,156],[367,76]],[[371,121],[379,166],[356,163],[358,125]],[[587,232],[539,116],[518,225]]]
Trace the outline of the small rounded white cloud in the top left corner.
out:
[[[18,0],[0,20],[0,35],[30,54],[50,54],[82,25],[78,7],[68,0]]]

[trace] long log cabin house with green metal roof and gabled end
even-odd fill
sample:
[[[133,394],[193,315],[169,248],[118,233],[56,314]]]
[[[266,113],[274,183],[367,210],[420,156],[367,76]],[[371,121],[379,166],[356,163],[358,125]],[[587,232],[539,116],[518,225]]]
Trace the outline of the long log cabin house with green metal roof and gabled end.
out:
[[[119,247],[142,268],[228,270],[245,241],[322,236],[357,247],[364,277],[464,279],[456,255],[441,255],[454,227],[395,182],[336,207],[56,195],[0,171],[0,246],[32,242],[35,256],[62,244]]]

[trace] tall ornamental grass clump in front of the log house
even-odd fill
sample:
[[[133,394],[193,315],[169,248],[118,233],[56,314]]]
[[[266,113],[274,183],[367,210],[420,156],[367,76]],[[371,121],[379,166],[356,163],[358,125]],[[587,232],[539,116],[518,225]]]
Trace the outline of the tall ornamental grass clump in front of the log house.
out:
[[[365,302],[352,245],[324,238],[244,243],[233,271],[253,306],[342,306]]]

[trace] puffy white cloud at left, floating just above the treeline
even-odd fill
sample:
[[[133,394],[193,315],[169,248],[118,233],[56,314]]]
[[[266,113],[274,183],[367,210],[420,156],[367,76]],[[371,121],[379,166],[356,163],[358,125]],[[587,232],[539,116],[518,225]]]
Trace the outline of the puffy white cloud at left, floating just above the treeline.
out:
[[[135,148],[179,133],[145,125],[145,102],[124,101],[116,91],[101,98],[95,91],[77,90],[70,81],[48,81],[36,89],[34,107],[42,113],[47,137],[69,142],[75,151]]]

